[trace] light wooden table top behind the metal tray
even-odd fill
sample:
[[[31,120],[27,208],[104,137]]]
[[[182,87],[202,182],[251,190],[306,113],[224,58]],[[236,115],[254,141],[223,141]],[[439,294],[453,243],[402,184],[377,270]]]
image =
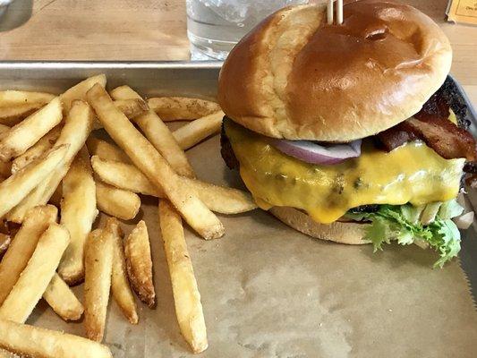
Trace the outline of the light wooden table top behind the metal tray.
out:
[[[403,0],[454,49],[452,73],[477,106],[477,27],[445,21],[447,0]],[[0,21],[0,60],[188,60],[184,0],[15,0]]]

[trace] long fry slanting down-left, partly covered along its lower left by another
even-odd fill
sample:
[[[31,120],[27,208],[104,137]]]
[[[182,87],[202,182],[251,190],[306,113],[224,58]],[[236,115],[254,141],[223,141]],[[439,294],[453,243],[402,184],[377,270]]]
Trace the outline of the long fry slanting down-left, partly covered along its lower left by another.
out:
[[[37,205],[44,205],[50,200],[56,188],[68,172],[72,160],[84,145],[91,132],[94,114],[88,103],[75,100],[66,117],[60,137],[55,142],[54,148],[63,144],[69,144],[69,149],[64,157],[64,162],[56,170],[48,175],[47,179],[38,185],[29,196],[8,213],[7,219],[14,223],[21,223],[28,209]]]

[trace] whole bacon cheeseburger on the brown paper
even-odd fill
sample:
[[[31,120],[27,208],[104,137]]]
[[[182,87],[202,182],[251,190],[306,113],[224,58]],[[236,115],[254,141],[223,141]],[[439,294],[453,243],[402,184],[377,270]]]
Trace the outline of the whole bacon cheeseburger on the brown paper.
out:
[[[234,47],[218,83],[222,156],[288,226],[375,250],[417,243],[442,266],[460,250],[456,198],[476,159],[441,89],[449,41],[404,4],[348,2],[341,25],[326,18],[287,7]]]

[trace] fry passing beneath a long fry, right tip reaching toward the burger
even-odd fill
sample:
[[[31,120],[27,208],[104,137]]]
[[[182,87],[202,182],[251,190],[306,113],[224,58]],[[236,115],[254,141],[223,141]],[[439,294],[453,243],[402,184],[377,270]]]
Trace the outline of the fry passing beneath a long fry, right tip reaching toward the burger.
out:
[[[165,197],[164,192],[156,189],[149,179],[131,164],[105,160],[98,156],[91,157],[91,164],[96,175],[104,183],[144,195]],[[179,177],[179,180],[212,211],[221,214],[239,214],[257,208],[248,192],[183,176]]]

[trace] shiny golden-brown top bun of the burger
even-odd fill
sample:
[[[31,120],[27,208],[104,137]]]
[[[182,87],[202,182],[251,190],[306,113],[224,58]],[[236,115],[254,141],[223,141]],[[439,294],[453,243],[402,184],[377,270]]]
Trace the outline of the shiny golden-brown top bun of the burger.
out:
[[[342,25],[327,25],[325,6],[300,5],[260,22],[220,72],[226,115],[269,137],[353,141],[419,112],[452,62],[439,26],[382,0],[343,13]]]

